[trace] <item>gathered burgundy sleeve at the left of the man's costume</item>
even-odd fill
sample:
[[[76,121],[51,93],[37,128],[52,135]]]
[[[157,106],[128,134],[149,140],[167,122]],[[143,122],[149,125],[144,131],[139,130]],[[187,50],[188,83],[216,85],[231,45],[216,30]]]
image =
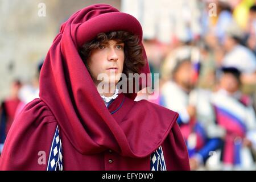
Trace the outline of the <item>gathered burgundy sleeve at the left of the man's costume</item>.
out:
[[[27,104],[13,122],[0,158],[0,170],[46,170],[57,122],[40,99]]]

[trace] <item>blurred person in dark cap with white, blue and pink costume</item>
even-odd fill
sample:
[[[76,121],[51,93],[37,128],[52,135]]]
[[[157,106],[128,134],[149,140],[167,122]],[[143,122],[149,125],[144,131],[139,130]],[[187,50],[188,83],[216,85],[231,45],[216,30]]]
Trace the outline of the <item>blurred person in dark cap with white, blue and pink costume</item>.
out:
[[[226,131],[220,155],[224,170],[256,169],[256,118],[250,97],[241,93],[240,75],[237,68],[221,68],[218,90],[212,95],[216,121]]]

